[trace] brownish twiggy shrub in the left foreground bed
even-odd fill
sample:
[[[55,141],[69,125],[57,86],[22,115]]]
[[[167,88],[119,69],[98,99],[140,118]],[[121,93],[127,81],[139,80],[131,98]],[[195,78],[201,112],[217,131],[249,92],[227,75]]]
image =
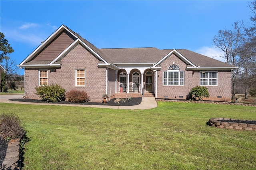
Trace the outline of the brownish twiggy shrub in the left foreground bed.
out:
[[[22,138],[25,130],[20,126],[20,119],[14,113],[0,115],[0,137],[3,140],[8,138]]]

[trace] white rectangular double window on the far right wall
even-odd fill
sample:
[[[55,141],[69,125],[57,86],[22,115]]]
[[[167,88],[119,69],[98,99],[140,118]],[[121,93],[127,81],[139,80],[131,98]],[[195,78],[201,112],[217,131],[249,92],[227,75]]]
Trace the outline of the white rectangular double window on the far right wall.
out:
[[[200,72],[200,85],[218,85],[218,72]]]

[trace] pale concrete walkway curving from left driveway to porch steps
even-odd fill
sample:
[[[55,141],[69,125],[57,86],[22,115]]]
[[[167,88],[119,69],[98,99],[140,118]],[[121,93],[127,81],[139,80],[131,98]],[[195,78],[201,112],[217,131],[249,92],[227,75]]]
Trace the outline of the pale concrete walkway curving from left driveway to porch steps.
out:
[[[58,105],[58,106],[74,106],[74,107],[96,107],[96,108],[110,108],[110,109],[152,109],[157,107],[156,99],[154,97],[142,97],[139,105],[135,106],[107,106],[107,105],[70,105],[70,104],[57,104],[57,103],[29,103],[20,101],[10,101],[9,99],[22,99],[23,95],[0,95],[0,103],[16,103],[16,104],[29,104],[29,105]]]

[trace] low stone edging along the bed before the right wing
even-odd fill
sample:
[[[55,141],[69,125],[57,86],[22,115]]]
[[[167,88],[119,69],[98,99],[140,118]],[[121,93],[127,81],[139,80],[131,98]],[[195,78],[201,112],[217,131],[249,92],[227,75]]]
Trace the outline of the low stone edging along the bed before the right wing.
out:
[[[245,104],[245,103],[232,103],[232,102],[226,102],[226,101],[192,101],[192,100],[174,100],[174,99],[156,99],[156,101],[163,101],[163,102],[181,102],[181,103],[212,103],[212,104],[218,104],[218,105],[240,105],[240,106],[253,106],[256,107],[256,105],[252,104]]]

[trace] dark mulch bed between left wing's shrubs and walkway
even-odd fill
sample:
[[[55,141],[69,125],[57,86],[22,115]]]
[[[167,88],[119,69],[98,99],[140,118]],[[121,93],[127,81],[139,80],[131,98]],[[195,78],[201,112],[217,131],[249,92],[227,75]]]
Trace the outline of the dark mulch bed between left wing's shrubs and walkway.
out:
[[[74,103],[69,101],[59,101],[58,104],[72,104],[72,105],[107,105],[107,106],[134,106],[141,103],[141,97],[133,97],[131,99],[121,98],[119,103],[114,102],[116,98],[111,99],[108,103],[97,103],[97,102],[84,102],[84,103]],[[36,99],[10,99],[11,101],[21,101],[21,102],[31,102],[31,103],[48,103],[46,101],[36,100]]]

